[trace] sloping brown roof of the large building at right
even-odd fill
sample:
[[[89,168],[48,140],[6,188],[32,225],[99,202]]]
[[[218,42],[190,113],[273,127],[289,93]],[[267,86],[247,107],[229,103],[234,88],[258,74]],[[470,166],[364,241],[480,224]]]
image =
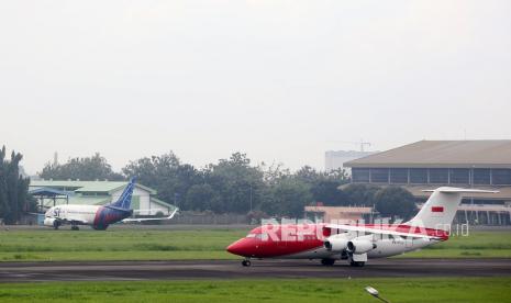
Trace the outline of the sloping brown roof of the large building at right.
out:
[[[420,141],[344,166],[511,168],[511,141]]]

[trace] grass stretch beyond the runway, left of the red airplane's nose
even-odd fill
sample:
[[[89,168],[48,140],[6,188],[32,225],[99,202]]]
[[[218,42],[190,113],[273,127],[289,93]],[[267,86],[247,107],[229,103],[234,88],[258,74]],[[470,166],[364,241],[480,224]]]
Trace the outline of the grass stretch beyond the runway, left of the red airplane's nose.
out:
[[[225,252],[245,229],[2,231],[0,260],[229,259]]]

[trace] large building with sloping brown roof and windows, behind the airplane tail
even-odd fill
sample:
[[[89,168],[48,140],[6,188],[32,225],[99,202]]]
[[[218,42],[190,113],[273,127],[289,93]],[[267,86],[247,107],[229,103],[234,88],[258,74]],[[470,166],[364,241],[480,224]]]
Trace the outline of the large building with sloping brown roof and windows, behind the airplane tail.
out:
[[[441,186],[498,190],[463,201],[458,222],[509,224],[511,141],[421,141],[347,161],[354,183],[401,186],[419,201]]]

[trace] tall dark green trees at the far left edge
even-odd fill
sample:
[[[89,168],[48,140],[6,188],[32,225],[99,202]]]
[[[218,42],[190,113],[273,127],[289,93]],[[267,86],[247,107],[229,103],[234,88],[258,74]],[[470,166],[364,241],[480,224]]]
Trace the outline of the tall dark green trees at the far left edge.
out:
[[[30,179],[20,175],[20,161],[23,156],[14,150],[7,157],[5,146],[0,149],[0,220],[5,224],[18,222],[23,212],[34,209],[33,200],[27,195]]]

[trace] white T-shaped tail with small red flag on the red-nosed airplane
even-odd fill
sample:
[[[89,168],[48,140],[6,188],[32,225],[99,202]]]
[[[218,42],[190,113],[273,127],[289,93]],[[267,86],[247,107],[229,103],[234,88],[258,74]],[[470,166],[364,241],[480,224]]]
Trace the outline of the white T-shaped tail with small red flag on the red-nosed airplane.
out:
[[[477,190],[477,189],[459,189],[442,187],[436,190],[427,190],[433,192],[422,206],[419,213],[407,224],[411,226],[421,226],[425,228],[434,228],[448,231],[456,215],[457,207],[462,203],[464,193],[497,193],[498,191]]]

